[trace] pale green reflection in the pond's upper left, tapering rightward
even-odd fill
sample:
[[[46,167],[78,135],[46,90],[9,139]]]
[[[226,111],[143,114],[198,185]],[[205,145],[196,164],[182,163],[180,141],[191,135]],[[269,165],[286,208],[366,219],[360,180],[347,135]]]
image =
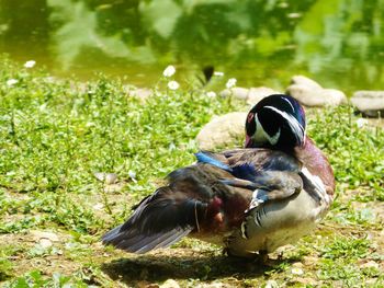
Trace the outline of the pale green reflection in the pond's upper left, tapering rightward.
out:
[[[120,34],[104,33],[99,25],[98,10],[91,11],[80,1],[48,0],[48,3],[53,8],[50,20],[58,26],[53,37],[55,51],[65,68],[81,59],[90,65],[94,58],[154,61],[147,47],[134,49],[126,45]]]

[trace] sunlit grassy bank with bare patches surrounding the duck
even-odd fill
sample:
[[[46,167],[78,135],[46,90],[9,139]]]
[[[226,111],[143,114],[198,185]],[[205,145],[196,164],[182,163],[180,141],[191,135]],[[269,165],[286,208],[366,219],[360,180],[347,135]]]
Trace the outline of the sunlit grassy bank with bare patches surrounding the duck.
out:
[[[4,287],[116,287],[203,284],[252,287],[384,286],[384,130],[359,128],[349,106],[308,112],[308,134],[328,154],[338,183],[314,235],[261,267],[218,247],[183,240],[135,256],[100,245],[167,173],[194,161],[194,138],[213,115],[247,110],[195,88],[159,80],[145,102],[123,81],[79,84],[1,59],[0,281]],[[9,87],[7,80],[19,82]],[[240,139],[234,145],[240,145]],[[115,173],[117,183],[94,173]],[[31,230],[53,231],[43,246]],[[273,257],[273,255],[272,255]],[[369,263],[369,264],[368,264]],[[303,275],[292,272],[295,265]]]

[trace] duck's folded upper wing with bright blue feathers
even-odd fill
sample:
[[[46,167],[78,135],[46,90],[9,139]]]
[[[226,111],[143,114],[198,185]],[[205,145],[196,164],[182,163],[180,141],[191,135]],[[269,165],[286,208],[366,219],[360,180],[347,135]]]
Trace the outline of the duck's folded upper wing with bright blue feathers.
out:
[[[301,162],[292,155],[269,149],[236,149],[223,153],[202,151],[199,162],[230,172],[222,183],[253,191],[249,209],[267,200],[281,200],[303,188]]]

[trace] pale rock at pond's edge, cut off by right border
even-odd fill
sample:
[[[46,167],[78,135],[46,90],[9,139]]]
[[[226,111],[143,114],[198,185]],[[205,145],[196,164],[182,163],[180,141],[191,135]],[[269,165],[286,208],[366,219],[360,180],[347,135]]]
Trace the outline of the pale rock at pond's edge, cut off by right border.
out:
[[[368,117],[384,117],[384,91],[357,91],[352,104]]]

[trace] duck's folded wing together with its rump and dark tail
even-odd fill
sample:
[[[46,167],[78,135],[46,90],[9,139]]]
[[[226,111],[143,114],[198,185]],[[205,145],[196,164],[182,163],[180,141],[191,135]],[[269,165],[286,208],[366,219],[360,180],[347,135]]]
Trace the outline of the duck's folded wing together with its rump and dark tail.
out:
[[[191,232],[218,235],[238,228],[252,203],[292,195],[297,185],[287,184],[283,172],[275,170],[293,163],[283,157],[269,159],[274,152],[268,150],[256,154],[252,150],[202,152],[196,164],[170,173],[169,184],[142,200],[124,224],[103,237],[103,243],[145,253]]]

